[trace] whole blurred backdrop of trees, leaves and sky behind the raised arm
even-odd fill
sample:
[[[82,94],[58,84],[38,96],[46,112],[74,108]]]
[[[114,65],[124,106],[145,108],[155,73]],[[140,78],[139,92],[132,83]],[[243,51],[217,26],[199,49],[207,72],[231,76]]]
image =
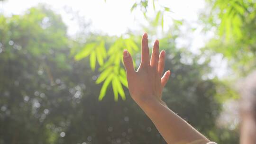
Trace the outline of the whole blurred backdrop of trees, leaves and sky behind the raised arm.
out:
[[[166,144],[122,65],[128,49],[137,68],[144,32],[167,53],[168,107],[238,144],[256,0],[0,0],[0,144]]]

